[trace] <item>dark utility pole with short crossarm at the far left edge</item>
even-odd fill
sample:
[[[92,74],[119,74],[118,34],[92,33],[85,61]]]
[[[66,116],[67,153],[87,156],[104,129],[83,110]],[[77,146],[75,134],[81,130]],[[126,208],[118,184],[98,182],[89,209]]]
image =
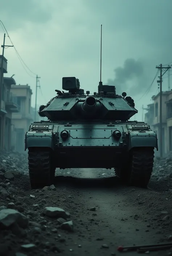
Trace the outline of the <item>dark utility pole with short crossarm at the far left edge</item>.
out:
[[[1,74],[0,74],[0,115],[1,115],[2,88],[3,88],[3,77],[4,77],[4,72],[3,72],[4,49],[5,47],[13,47],[13,45],[5,45],[5,34],[4,34],[4,42],[3,42],[3,45],[1,45],[1,47],[3,48],[3,53],[1,55]],[[1,124],[0,124],[0,149],[1,149],[1,142],[3,139],[2,127],[3,127],[3,121],[1,121]]]

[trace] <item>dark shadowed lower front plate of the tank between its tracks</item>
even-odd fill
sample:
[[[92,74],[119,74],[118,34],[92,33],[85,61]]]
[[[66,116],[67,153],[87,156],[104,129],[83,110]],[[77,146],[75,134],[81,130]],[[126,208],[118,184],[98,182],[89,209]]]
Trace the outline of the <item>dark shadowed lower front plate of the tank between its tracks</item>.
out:
[[[119,147],[62,147],[55,155],[59,159],[56,167],[62,169],[119,167],[127,158],[126,151]]]

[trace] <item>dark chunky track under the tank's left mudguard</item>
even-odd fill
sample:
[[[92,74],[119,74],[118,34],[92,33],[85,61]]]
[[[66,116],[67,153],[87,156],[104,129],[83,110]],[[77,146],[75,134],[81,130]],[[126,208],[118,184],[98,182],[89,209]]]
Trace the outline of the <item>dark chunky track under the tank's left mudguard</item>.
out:
[[[50,186],[55,176],[52,152],[47,148],[34,147],[28,149],[28,166],[30,186],[40,188]]]

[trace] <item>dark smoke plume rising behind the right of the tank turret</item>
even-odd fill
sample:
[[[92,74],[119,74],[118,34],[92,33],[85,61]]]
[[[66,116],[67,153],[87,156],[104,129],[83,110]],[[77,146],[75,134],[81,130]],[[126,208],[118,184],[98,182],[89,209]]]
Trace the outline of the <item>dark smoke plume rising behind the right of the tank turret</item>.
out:
[[[124,62],[123,67],[114,69],[115,79],[108,79],[108,85],[116,86],[116,93],[122,92],[137,95],[145,87],[143,63],[139,60],[129,58]]]

